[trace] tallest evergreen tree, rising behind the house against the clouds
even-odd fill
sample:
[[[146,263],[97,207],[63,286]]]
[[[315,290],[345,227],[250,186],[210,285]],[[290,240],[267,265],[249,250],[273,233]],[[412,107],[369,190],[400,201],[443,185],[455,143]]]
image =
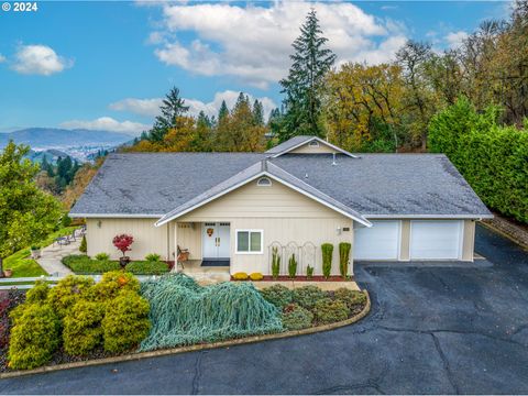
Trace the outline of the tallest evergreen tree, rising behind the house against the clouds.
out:
[[[282,92],[286,94],[286,114],[278,131],[280,141],[299,134],[323,135],[320,90],[324,75],[336,61],[336,55],[324,48],[327,41],[312,9],[292,45],[295,53],[290,55],[293,64],[288,77],[279,81]]]

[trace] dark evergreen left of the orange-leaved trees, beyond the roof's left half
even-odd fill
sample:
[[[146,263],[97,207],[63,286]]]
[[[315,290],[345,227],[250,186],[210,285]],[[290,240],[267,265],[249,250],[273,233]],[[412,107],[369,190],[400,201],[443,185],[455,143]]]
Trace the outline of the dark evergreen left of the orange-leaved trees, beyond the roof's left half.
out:
[[[157,116],[148,132],[148,140],[151,142],[162,142],[169,129],[177,128],[177,120],[179,117],[187,113],[188,106],[185,106],[185,100],[179,97],[179,89],[174,87],[163,100],[160,107],[162,116]]]

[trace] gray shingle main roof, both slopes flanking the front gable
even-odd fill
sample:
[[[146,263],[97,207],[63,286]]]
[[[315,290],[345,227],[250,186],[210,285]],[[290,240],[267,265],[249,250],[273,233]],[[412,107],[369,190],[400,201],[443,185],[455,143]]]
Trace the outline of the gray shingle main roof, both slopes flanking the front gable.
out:
[[[226,188],[229,178],[251,173],[248,168],[265,157],[249,153],[112,154],[70,215],[162,217]],[[287,154],[268,164],[278,177],[290,178],[286,182],[307,184],[304,188],[311,188],[310,194],[328,196],[365,217],[490,215],[444,155],[361,154],[352,158],[338,154],[333,166],[331,155]]]

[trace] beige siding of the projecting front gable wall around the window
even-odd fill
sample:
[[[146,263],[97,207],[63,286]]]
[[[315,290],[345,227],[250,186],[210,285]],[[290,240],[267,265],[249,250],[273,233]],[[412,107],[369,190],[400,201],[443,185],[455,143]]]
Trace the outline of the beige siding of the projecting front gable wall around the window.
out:
[[[200,222],[230,222],[231,273],[261,272],[270,273],[270,245],[278,242],[286,245],[295,242],[299,246],[311,242],[316,245],[316,274],[322,273],[321,250],[324,242],[334,245],[333,273],[339,274],[339,242],[353,241],[352,220],[305,197],[289,187],[273,180],[271,187],[257,187],[256,182],[234,190],[210,204],[198,208],[178,219],[178,222],[197,222],[196,230],[201,230]],[[349,228],[349,231],[338,231]],[[263,230],[262,254],[238,254],[235,252],[237,230]],[[178,235],[182,230],[178,229]],[[201,243],[201,231],[196,232],[195,243]],[[179,241],[179,238],[178,238]],[[199,241],[199,242],[198,242]],[[179,242],[178,242],[179,243]],[[180,243],[182,244],[182,243]],[[189,244],[191,242],[189,241]],[[286,268],[287,258],[283,257]],[[302,257],[298,257],[302,261]],[[305,263],[300,265],[305,266]],[[350,268],[352,273],[352,265]],[[302,271],[304,273],[304,271]]]

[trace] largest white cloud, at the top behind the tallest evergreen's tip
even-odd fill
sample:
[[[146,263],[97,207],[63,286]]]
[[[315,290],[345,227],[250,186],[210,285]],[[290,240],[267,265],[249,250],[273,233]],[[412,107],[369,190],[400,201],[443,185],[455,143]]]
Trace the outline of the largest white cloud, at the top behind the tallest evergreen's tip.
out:
[[[317,11],[328,46],[340,62],[387,62],[394,44],[405,42],[398,23],[382,21],[344,2],[277,1],[271,7],[250,3],[165,3],[166,32],[156,32],[156,56],[167,65],[205,76],[235,76],[266,88],[288,70],[292,42],[299,35],[310,7]],[[184,42],[178,34],[191,32]]]

